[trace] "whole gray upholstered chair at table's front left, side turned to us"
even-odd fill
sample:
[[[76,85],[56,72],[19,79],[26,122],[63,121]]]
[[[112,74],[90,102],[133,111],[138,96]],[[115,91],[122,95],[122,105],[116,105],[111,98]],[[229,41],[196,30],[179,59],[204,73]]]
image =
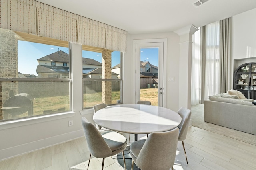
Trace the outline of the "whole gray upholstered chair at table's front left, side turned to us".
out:
[[[89,168],[92,155],[96,158],[103,158],[102,170],[104,168],[104,160],[106,157],[113,156],[122,152],[124,158],[124,149],[127,147],[126,137],[114,131],[108,131],[100,134],[95,125],[88,122],[85,117],[82,117],[82,126],[84,129],[86,142],[90,150],[90,158],[87,170]],[[124,169],[126,169],[125,159]]]

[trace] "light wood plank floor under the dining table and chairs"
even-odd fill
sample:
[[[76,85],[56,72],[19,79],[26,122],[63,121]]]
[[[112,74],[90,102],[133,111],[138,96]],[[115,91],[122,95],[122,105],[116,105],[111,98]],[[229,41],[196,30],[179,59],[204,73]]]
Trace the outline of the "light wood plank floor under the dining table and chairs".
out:
[[[128,134],[125,134],[128,137]],[[131,135],[133,136],[133,135]],[[189,128],[178,142],[175,170],[256,170],[256,146],[217,133]],[[0,162],[0,170],[86,170],[90,153],[84,137]],[[100,170],[102,159],[92,158],[90,170]],[[122,170],[116,159],[106,158],[104,170]]]

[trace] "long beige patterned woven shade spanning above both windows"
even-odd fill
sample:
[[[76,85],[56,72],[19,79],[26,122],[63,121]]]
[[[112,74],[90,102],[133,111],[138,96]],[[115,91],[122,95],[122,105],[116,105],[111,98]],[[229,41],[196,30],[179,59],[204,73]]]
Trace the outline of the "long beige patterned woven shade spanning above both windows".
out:
[[[126,52],[127,32],[35,0],[1,0],[0,27]]]

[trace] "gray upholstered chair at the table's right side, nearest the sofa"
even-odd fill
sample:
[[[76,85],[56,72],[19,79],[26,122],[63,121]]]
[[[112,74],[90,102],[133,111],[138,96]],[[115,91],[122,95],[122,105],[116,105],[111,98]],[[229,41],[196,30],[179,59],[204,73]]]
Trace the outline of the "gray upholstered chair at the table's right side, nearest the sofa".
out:
[[[187,161],[187,164],[188,164],[188,159],[187,159],[186,150],[185,150],[185,146],[184,146],[184,142],[183,141],[187,137],[189,121],[190,121],[190,117],[191,117],[191,111],[190,111],[190,109],[186,109],[184,107],[181,107],[178,110],[177,113],[181,117],[180,125],[178,125],[178,128],[180,129],[179,141],[182,141],[182,146],[183,146],[184,153],[185,153],[185,156],[186,156],[186,161]]]

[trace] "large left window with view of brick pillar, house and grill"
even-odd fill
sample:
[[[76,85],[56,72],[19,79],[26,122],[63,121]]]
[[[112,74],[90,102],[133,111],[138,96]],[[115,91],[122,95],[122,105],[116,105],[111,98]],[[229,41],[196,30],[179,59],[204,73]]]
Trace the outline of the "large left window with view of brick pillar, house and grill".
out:
[[[0,37],[0,121],[70,111],[68,42],[6,29]]]

